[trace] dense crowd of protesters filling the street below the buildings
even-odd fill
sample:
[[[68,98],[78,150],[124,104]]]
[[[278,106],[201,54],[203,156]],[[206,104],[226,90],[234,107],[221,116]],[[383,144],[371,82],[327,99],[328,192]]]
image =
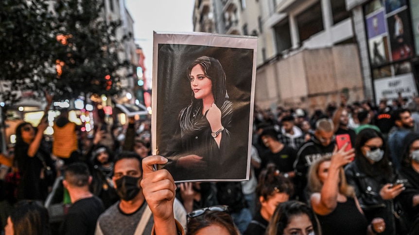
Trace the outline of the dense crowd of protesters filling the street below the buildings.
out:
[[[313,115],[255,107],[244,182],[175,184],[153,169],[168,160],[150,156],[149,120],[111,126],[98,116],[93,137],[81,138],[63,110],[51,146],[45,119],[17,126],[13,160],[0,159],[10,166],[1,180],[6,235],[419,234],[418,97],[376,107],[342,95]],[[40,204],[52,191],[68,204],[58,224]]]

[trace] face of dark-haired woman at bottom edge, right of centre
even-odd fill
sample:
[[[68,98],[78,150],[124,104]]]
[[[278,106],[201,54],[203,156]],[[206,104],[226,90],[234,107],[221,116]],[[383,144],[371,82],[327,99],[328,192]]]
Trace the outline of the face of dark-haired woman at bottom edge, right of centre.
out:
[[[300,214],[291,217],[284,235],[314,235],[313,223],[307,214]]]

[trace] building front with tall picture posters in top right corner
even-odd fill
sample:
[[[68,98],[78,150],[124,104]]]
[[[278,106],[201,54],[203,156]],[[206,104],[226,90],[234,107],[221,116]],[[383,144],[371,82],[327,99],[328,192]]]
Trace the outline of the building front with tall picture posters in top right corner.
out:
[[[346,0],[366,95],[376,102],[418,95],[419,1]]]

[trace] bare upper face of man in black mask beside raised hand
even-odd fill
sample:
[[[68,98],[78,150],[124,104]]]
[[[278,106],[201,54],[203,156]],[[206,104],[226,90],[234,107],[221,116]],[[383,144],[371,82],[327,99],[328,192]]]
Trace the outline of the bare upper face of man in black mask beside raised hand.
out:
[[[122,176],[127,175],[131,177],[140,177],[138,181],[138,186],[140,187],[140,181],[142,172],[140,169],[140,162],[136,158],[123,158],[115,163],[114,174],[112,180],[114,182],[115,188],[116,180],[122,178]]]

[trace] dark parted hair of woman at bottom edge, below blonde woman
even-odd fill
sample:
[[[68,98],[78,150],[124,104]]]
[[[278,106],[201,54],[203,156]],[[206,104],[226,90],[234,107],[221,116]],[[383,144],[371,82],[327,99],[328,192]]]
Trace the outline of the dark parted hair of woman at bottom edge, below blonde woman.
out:
[[[299,215],[307,215],[313,224],[314,234],[321,235],[320,226],[313,210],[308,205],[298,201],[283,202],[277,206],[266,229],[266,234],[282,235],[290,220]]]

